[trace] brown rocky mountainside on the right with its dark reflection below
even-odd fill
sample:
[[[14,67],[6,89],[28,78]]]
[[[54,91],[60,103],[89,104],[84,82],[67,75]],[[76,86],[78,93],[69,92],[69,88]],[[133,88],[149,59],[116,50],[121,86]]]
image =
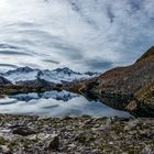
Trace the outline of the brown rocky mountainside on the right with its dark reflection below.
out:
[[[154,47],[133,65],[117,67],[86,82],[72,85],[70,90],[99,98],[114,108],[154,114]]]

